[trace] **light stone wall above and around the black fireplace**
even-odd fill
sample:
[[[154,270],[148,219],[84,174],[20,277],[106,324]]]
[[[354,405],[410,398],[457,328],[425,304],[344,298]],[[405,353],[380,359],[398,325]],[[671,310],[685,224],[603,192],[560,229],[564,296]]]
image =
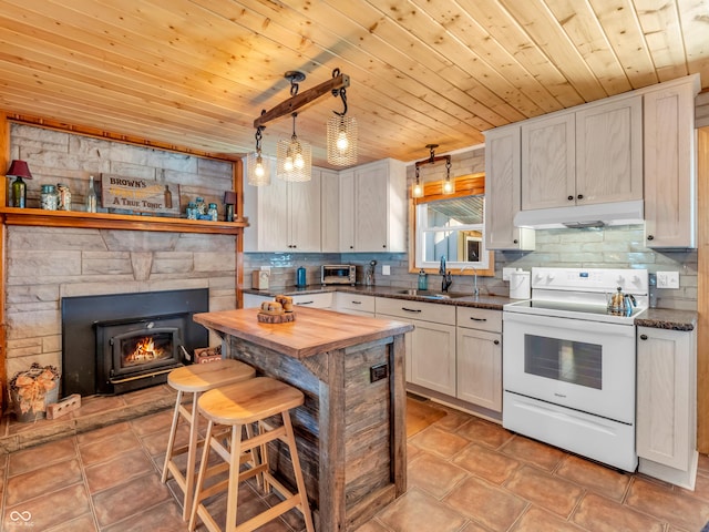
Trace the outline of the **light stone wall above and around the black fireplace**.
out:
[[[29,163],[28,206],[40,185],[65,183],[83,211],[89,176],[102,173],[177,183],[181,204],[195,196],[222,207],[232,164],[13,124],[11,158]],[[222,214],[222,213],[220,213]],[[61,367],[61,298],[209,288],[212,310],[235,308],[235,237],[188,233],[7,227],[7,374],[31,362]]]

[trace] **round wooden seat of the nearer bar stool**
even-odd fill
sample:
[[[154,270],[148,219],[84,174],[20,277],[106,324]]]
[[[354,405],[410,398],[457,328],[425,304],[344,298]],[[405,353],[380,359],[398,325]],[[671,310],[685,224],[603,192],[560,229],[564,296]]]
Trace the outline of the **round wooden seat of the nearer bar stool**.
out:
[[[302,391],[279,380],[256,377],[216,388],[199,398],[199,411],[220,424],[248,424],[299,407]]]

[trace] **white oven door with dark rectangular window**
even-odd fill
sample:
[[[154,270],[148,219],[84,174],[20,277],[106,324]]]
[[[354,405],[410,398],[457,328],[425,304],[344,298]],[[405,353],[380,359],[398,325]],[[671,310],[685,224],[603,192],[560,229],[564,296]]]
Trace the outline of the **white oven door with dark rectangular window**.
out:
[[[635,423],[635,327],[505,311],[507,391]]]

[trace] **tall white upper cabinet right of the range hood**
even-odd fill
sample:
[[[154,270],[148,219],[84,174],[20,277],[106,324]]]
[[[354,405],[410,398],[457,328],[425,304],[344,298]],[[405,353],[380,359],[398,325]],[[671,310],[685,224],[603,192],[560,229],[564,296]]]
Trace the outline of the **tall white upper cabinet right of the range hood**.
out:
[[[696,241],[695,98],[697,75],[644,96],[645,238],[650,248],[693,248]]]

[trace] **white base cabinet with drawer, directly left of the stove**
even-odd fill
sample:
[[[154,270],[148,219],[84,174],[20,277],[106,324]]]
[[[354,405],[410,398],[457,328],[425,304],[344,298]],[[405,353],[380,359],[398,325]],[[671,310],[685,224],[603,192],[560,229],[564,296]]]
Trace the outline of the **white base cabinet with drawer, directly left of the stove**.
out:
[[[456,397],[502,412],[502,313],[458,307]]]

